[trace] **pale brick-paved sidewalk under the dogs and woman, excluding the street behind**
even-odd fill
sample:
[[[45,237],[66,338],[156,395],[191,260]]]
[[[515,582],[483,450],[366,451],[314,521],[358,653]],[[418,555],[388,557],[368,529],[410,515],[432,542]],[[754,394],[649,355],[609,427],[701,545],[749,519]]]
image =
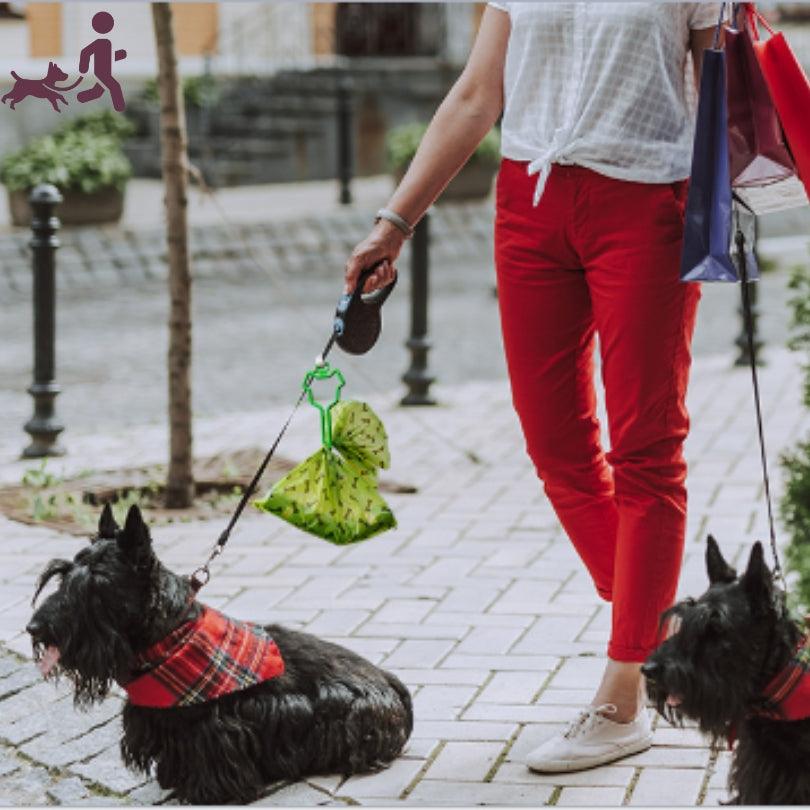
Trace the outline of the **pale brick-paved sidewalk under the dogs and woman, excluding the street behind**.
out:
[[[796,358],[772,349],[762,370],[770,458],[806,431]],[[240,618],[278,620],[345,644],[397,672],[415,697],[409,748],[387,770],[346,781],[329,777],[275,786],[263,804],[499,804],[608,806],[716,804],[724,797],[725,752],[692,728],[658,721],[655,745],[616,765],[537,776],[526,752],[586,703],[604,664],[608,607],[593,592],[525,458],[503,381],[441,388],[430,425],[474,448],[474,464],[418,420],[396,396],[371,399],[392,441],[390,476],[419,487],[391,495],[399,528],[348,548],[333,547],[268,516],[248,515],[204,592]],[[711,530],[728,556],[744,559],[765,539],[749,372],[726,355],[698,358],[687,441],[690,512],[680,594],[705,586]],[[201,419],[198,452],[267,442],[286,408]],[[603,420],[604,424],[604,420]],[[299,458],[317,437],[303,412],[285,439]],[[73,439],[66,472],[159,459],[162,427]],[[26,465],[7,462],[0,478]],[[775,475],[776,492],[780,491]],[[64,688],[41,683],[21,633],[34,577],[82,540],[0,521],[0,777],[11,804],[149,803],[153,782],[128,773],[117,747],[117,699],[89,714]],[[213,523],[156,532],[163,558],[189,571],[217,533]]]

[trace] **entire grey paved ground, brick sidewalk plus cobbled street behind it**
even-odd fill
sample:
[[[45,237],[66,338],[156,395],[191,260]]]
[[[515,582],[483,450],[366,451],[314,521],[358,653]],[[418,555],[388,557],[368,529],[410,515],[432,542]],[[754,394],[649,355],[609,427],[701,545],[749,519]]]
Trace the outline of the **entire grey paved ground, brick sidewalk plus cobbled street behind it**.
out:
[[[379,192],[370,185],[363,199],[370,205]],[[305,213],[307,199],[290,211]],[[213,218],[194,216],[202,229],[213,227]],[[129,225],[151,224],[145,214],[141,219]],[[274,233],[283,241],[285,228]],[[588,702],[604,665],[609,609],[593,593],[525,457],[504,381],[487,239],[471,237],[463,255],[452,247],[434,254],[430,363],[438,407],[397,407],[408,363],[407,277],[386,305],[385,335],[374,351],[340,359],[347,393],[362,394],[386,423],[388,475],[419,488],[386,496],[399,528],[336,548],[247,514],[204,592],[236,617],[281,621],[345,644],[396,671],[414,693],[413,738],[390,768],[346,781],[276,785],[261,803],[716,805],[725,796],[728,754],[709,751],[694,729],[663,721],[650,751],[616,765],[547,777],[523,765],[528,750]],[[790,242],[792,253],[776,240],[771,248],[783,269],[760,285],[768,361],[761,385],[778,496],[778,453],[808,427],[798,359],[781,348],[785,267],[807,254],[801,239]],[[345,258],[335,254],[311,272],[274,266],[261,274],[217,255],[194,298],[199,455],[271,441],[328,331]],[[105,283],[113,268],[96,264],[102,277],[95,282],[66,273],[61,284],[57,368],[64,390],[57,407],[68,425],[69,455],[49,463],[55,474],[165,457],[164,285],[144,273],[137,284]],[[681,595],[705,587],[707,531],[738,563],[753,539],[767,537],[750,376],[732,366],[737,295],[728,285],[704,285],[689,393]],[[0,289],[0,482],[18,482],[31,466],[16,460],[31,410],[30,328],[25,291]],[[305,409],[280,452],[299,459],[317,440],[316,416]],[[472,463],[468,449],[482,463]],[[172,567],[190,571],[220,529],[178,523],[156,531],[156,545]],[[83,541],[2,518],[0,536],[0,804],[165,800],[153,781],[120,762],[120,696],[81,713],[64,685],[40,682],[30,661],[22,628],[36,575]]]

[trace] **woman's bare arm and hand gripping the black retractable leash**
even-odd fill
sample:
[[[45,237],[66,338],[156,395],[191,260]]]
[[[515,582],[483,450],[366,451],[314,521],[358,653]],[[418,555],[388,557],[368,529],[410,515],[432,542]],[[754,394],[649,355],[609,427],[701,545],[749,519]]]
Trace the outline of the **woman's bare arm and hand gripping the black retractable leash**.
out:
[[[387,208],[415,224],[444,187],[466,163],[493,127],[503,109],[503,67],[509,40],[509,15],[487,6],[467,64],[445,96],[402,182]],[[404,234],[380,220],[352,251],[346,263],[346,291],[350,292],[364,267],[385,262],[369,277],[367,292],[390,283],[393,262],[402,249]]]

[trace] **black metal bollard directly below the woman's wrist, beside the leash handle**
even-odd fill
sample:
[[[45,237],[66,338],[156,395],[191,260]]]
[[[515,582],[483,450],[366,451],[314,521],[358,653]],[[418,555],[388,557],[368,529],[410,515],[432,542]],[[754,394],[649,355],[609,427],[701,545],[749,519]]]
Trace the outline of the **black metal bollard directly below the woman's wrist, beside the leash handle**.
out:
[[[430,215],[425,214],[414,228],[411,241],[411,336],[405,345],[411,351],[411,366],[402,375],[408,393],[400,405],[435,405],[428,388],[435,377],[428,374],[427,353],[430,349],[428,332],[428,270]]]

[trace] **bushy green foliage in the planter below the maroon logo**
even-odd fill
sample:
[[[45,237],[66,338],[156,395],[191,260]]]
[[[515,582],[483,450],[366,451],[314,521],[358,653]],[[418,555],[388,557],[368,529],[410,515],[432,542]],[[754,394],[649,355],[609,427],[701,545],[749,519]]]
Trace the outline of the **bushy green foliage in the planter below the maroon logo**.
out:
[[[38,183],[89,194],[102,188],[122,189],[132,165],[111,135],[69,130],[34,138],[0,162],[0,181],[9,191],[25,191]]]

